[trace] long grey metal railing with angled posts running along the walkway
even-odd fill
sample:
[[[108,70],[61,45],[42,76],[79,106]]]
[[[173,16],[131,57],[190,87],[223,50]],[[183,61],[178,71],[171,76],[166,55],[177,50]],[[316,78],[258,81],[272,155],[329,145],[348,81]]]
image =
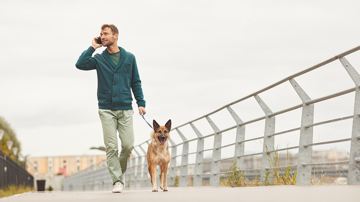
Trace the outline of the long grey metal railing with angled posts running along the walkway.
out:
[[[229,161],[231,159],[237,159],[237,166],[242,168],[242,171],[248,172],[258,172],[260,171],[260,182],[265,181],[265,173],[269,170],[273,169],[285,169],[285,168],[294,168],[297,169],[297,178],[296,184],[310,184],[310,175],[312,171],[312,166],[323,166],[323,165],[339,165],[339,164],[348,164],[348,178],[347,184],[360,184],[360,75],[356,72],[356,70],[351,66],[351,64],[345,59],[346,55],[349,55],[355,51],[360,50],[360,46],[346,51],[342,54],[334,56],[329,60],[326,60],[320,64],[312,66],[306,70],[303,70],[297,74],[291,75],[275,84],[261,89],[251,95],[248,95],[240,100],[232,102],[228,105],[221,107],[207,115],[204,115],[200,118],[195,120],[189,121],[183,125],[180,125],[176,128],[171,130],[170,134],[170,145],[169,148],[171,150],[171,160],[168,167],[168,185],[173,185],[176,181],[179,183],[180,187],[188,186],[188,177],[193,178],[193,186],[202,186],[203,179],[209,179],[210,186],[217,186],[220,184],[220,176],[227,174],[224,169],[221,169],[221,163],[225,161]],[[300,87],[300,85],[295,81],[294,78],[309,73],[312,70],[320,68],[326,64],[332,63],[333,61],[339,60],[343,67],[345,68],[346,72],[350,75],[352,81],[355,83],[355,87],[350,89],[345,89],[338,93],[333,93],[331,95],[323,96],[316,99],[311,99],[306,92]],[[265,104],[265,102],[260,98],[259,94],[262,92],[266,92],[276,86],[279,86],[282,83],[289,82],[291,87],[295,90],[296,96],[300,97],[302,103],[297,104],[293,107],[289,107],[286,109],[282,109],[276,112],[271,111],[271,109]],[[318,102],[322,102],[325,100],[329,100],[331,98],[335,98],[338,96],[343,96],[348,93],[352,93],[355,91],[355,100],[354,100],[354,113],[350,116],[345,116],[341,118],[321,121],[319,123],[314,123],[314,104]],[[239,116],[235,113],[235,111],[231,107],[235,107],[235,104],[243,102],[248,98],[254,97],[256,102],[261,107],[264,115],[248,121],[242,121]],[[279,100],[276,100],[279,102]],[[234,105],[234,106],[233,106]],[[301,123],[300,127],[294,127],[292,129],[288,129],[282,132],[275,133],[275,117],[281,114],[286,114],[296,109],[302,108],[301,112]],[[211,119],[210,115],[215,115],[221,113],[221,110],[226,110],[231,115],[232,119],[234,119],[236,125],[220,130],[217,125]],[[235,108],[234,108],[235,109]],[[317,142],[313,143],[313,128],[318,127],[319,125],[329,124],[336,121],[343,121],[352,119],[352,133],[351,138],[339,138],[332,141],[325,141],[325,142]],[[206,121],[213,132],[210,134],[202,135],[198,128],[195,127],[194,122],[196,121]],[[261,137],[249,138],[245,139],[245,127],[246,125],[252,123],[260,123],[259,121],[265,120],[265,129],[264,135]],[[220,121],[219,121],[220,122]],[[198,123],[198,122],[196,122]],[[193,130],[193,133],[196,135],[196,138],[187,139],[181,130],[185,131],[185,127],[190,128]],[[236,130],[235,130],[236,129]],[[175,132],[176,131],[176,132]],[[224,133],[224,137],[228,132],[235,135],[235,141],[221,145],[222,141],[222,133]],[[297,146],[291,146],[287,148],[275,148],[275,136],[281,134],[287,134],[294,131],[300,131],[300,138],[299,144]],[[179,139],[181,142],[176,144],[172,137],[174,135],[179,134]],[[185,133],[186,134],[186,133]],[[213,138],[213,141],[211,140]],[[211,148],[204,148],[205,140],[210,140],[213,142],[213,146]],[[262,141],[262,152],[254,152],[250,154],[245,154],[244,146],[249,144],[249,142],[253,141]],[[324,145],[324,144],[332,144],[332,143],[339,143],[339,142],[346,142],[350,141],[350,159],[348,161],[335,161],[335,162],[313,162],[312,161],[312,153],[313,153],[313,146],[316,145]],[[127,171],[125,173],[125,187],[136,188],[136,187],[149,187],[151,186],[149,173],[148,173],[148,165],[146,160],[146,148],[150,143],[150,139],[135,146],[134,152],[132,152],[129,164],[127,166]],[[196,152],[189,152],[190,150],[190,143],[196,143]],[[195,146],[192,146],[191,149],[194,149]],[[234,155],[231,157],[225,157],[221,159],[221,150],[224,150],[229,147],[234,147]],[[177,150],[182,150],[181,155],[177,154]],[[286,165],[286,166],[269,166],[269,161],[273,159],[274,153],[279,151],[285,150],[298,150],[298,159],[296,165]],[[204,158],[204,152],[211,152],[212,156],[211,159]],[[195,162],[189,163],[189,156],[195,156]],[[261,166],[257,166],[253,169],[243,169],[244,168],[244,157],[259,157],[261,155]],[[181,158],[181,164],[177,165],[177,159]],[[110,189],[111,188],[111,178],[108,174],[108,170],[104,167],[105,162],[102,162],[99,165],[93,166],[85,171],[81,171],[75,175],[72,175],[63,180],[64,190],[82,190],[82,189]],[[188,173],[188,167],[192,166],[194,169],[193,174]],[[205,166],[210,166],[210,172],[205,170]],[[159,174],[159,170],[158,170]],[[157,174],[157,176],[158,176]],[[178,179],[177,176],[179,177]],[[157,183],[159,181],[157,180]],[[270,182],[271,183],[271,182]]]

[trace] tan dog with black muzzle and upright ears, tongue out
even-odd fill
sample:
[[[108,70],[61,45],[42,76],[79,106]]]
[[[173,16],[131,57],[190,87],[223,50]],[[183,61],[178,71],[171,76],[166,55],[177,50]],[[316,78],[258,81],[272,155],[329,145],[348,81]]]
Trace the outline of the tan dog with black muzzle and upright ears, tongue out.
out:
[[[148,146],[148,152],[146,154],[148,160],[148,170],[151,177],[151,184],[153,192],[157,192],[156,187],[156,166],[160,166],[160,189],[167,192],[167,166],[170,162],[170,152],[168,140],[170,138],[171,119],[168,120],[165,126],[160,126],[155,120],[153,120],[154,131],[151,132],[151,143]],[[164,181],[162,179],[164,174]]]

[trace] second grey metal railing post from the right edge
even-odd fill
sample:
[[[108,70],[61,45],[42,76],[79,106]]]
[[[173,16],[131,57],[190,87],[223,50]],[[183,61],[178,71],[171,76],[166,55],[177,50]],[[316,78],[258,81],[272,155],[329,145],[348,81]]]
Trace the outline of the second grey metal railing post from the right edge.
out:
[[[311,100],[311,98],[305,93],[305,91],[294,79],[289,79],[289,82],[291,83],[292,87],[295,89],[297,95],[302,101],[296,185],[310,184],[311,166],[302,166],[302,164],[311,164],[312,162],[312,146],[304,147],[304,144],[312,143],[313,128],[305,128],[305,126],[314,123],[314,104],[306,105],[306,101]]]

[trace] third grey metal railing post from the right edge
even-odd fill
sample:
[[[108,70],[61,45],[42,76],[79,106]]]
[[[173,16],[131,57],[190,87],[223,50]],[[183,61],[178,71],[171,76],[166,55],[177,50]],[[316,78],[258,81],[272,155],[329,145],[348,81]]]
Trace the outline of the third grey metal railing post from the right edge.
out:
[[[264,129],[264,143],[262,145],[262,157],[261,157],[261,171],[260,182],[265,182],[266,167],[271,167],[271,162],[274,161],[274,153],[267,153],[267,151],[274,150],[275,137],[267,137],[267,135],[275,133],[275,116],[269,117],[268,114],[273,113],[270,108],[258,95],[254,95],[257,103],[260,105],[262,111],[265,113],[265,129]],[[269,183],[273,184],[273,179],[269,178]],[[260,184],[265,185],[265,184]]]

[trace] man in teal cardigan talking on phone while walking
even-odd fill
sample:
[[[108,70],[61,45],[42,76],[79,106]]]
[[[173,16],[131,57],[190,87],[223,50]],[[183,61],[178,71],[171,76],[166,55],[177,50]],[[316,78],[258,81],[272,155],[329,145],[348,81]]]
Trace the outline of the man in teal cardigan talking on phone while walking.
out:
[[[119,31],[113,24],[103,24],[100,36],[94,37],[92,45],[76,62],[81,70],[96,69],[98,74],[99,115],[103,127],[106,148],[106,162],[113,180],[112,192],[122,192],[125,185],[124,173],[134,148],[134,129],[132,126],[131,92],[134,93],[139,114],[144,115],[145,100],[135,56],[117,46]],[[102,44],[97,40],[101,38]],[[102,54],[91,57],[94,51],[105,46]],[[144,113],[143,113],[144,112]],[[118,156],[116,130],[121,140],[121,153]]]

